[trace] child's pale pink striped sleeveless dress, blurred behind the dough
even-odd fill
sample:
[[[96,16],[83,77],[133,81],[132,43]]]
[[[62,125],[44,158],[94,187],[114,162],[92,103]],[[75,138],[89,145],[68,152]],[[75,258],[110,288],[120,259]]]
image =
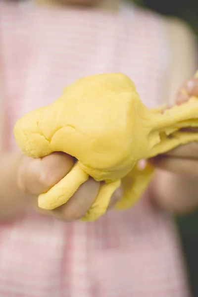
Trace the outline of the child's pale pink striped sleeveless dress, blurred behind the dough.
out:
[[[0,71],[6,146],[25,112],[75,79],[123,72],[149,106],[161,104],[167,72],[165,21],[123,4],[119,13],[0,2]],[[0,297],[189,297],[171,217],[149,205],[93,223],[27,212],[0,224]]]

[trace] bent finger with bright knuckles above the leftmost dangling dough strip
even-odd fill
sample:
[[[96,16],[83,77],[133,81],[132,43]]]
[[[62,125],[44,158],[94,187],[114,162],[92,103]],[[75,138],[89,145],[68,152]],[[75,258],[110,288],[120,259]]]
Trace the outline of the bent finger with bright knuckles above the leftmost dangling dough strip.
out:
[[[20,188],[33,195],[47,192],[57,184],[72,168],[71,156],[54,152],[42,159],[25,157],[19,169]]]

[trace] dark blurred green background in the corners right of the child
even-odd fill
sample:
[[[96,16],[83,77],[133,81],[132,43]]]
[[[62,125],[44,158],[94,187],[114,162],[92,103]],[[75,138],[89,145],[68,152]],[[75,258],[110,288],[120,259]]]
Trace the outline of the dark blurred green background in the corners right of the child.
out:
[[[163,15],[177,16],[198,36],[198,0],[133,0]],[[176,218],[187,261],[193,297],[198,297],[198,212]],[[167,296],[168,297],[168,296]]]

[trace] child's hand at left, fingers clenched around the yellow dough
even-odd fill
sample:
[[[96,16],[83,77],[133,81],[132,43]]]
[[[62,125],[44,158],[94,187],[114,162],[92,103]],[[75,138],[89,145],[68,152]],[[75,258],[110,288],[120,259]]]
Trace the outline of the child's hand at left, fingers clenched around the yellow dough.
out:
[[[59,182],[73,165],[73,158],[61,152],[54,152],[43,159],[23,156],[18,170],[18,186],[22,192],[29,194],[39,212],[51,214],[65,221],[79,219],[84,216],[97,197],[100,183],[93,179],[83,184],[66,204],[54,210],[42,210],[37,206],[38,196]],[[110,207],[120,196],[117,190],[111,198]]]

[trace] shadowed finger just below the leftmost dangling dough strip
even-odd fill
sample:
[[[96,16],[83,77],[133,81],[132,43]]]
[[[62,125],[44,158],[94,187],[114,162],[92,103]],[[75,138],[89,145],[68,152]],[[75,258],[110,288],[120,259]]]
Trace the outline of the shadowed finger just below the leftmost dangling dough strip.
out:
[[[99,186],[99,182],[89,179],[80,186],[67,203],[51,210],[51,214],[64,221],[73,221],[82,218],[97,198]]]

